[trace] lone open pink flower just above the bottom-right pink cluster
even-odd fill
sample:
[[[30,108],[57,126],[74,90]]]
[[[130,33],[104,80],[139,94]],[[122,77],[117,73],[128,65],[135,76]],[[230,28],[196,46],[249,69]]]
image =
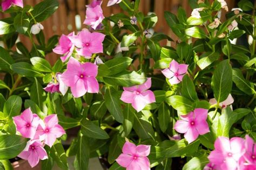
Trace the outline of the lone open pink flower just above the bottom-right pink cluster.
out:
[[[184,137],[188,143],[196,140],[200,135],[210,132],[209,126],[206,122],[207,109],[194,109],[187,115],[181,115],[181,120],[177,121],[174,129],[179,133],[185,133]]]

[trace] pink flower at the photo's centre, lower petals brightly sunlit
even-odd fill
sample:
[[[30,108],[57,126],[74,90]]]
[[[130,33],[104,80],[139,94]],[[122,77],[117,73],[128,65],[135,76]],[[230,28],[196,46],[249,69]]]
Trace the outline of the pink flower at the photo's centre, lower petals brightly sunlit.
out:
[[[125,103],[132,103],[137,112],[142,111],[146,104],[156,102],[153,91],[147,90],[150,87],[151,78],[147,78],[147,81],[139,86],[124,87],[120,99]]]

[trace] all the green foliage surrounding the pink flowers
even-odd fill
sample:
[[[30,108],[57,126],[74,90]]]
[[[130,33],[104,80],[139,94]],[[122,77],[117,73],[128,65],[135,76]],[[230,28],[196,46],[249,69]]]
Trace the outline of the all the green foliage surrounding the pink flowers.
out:
[[[172,158],[186,157],[183,169],[201,169],[207,164],[207,155],[214,149],[217,137],[249,134],[256,139],[254,15],[230,12],[219,27],[209,29],[207,25],[221,10],[221,4],[218,1],[212,4],[190,1],[193,9],[205,8],[200,12],[201,18],[188,17],[182,8],[177,16],[166,11],[165,19],[181,42],[176,48],[161,47],[159,41],[172,39],[163,33],[154,33],[150,38],[145,36],[145,30],[151,29],[158,18],[139,12],[139,2],[123,0],[119,5],[128,12],[127,15],[118,13],[103,20],[104,30],[101,32],[106,37],[104,53],[99,55],[105,62],[98,67],[100,92],[86,93],[80,98],[73,98],[70,91],[62,96],[43,90],[56,73],[66,69],[66,63],[58,60],[51,66],[44,59],[56,46],[58,36],[45,42],[41,31],[35,42],[30,34],[31,26],[50,17],[57,10],[58,2],[45,0],[35,7],[28,5],[21,9],[14,6],[5,11],[11,13],[11,17],[0,20],[0,35],[3,35],[0,40],[5,45],[5,48],[0,47],[0,70],[4,73],[4,79],[0,81],[0,167],[11,168],[8,159],[16,157],[25,147],[26,140],[16,135],[12,117],[29,107],[41,118],[58,115],[59,124],[68,130],[67,136],[60,140],[70,137],[69,129],[79,130],[68,150],[64,150],[60,140],[51,148],[45,148],[49,159],[42,161],[43,169],[51,169],[54,162],[62,169],[69,169],[67,157],[73,155],[76,169],[87,169],[90,158],[102,155],[107,155],[107,161],[113,164],[110,169],[122,169],[114,161],[122,152],[125,138],[151,145],[151,167],[170,169]],[[246,0],[242,0],[239,7],[244,11],[254,10]],[[138,26],[131,24],[131,16],[137,18]],[[124,23],[121,28],[119,20]],[[228,31],[233,20],[238,22],[238,29]],[[112,27],[110,22],[115,25]],[[218,38],[223,33],[225,36]],[[17,42],[19,34],[30,37],[32,49]],[[253,37],[250,47],[231,44],[230,40],[244,35]],[[188,43],[192,38],[195,41]],[[119,43],[129,47],[129,51],[115,54],[114,49]],[[14,47],[17,51],[12,50]],[[84,61],[94,58],[95,55]],[[173,59],[189,65],[188,74],[176,85],[169,84],[156,72],[169,67]],[[134,65],[136,60],[139,61],[138,68]],[[136,112],[131,104],[120,101],[122,87],[142,84],[146,77],[152,77],[151,90],[156,103]],[[219,107],[228,94],[234,97],[233,111]],[[210,105],[210,98],[215,98],[217,104]],[[179,116],[195,108],[209,110],[207,122],[211,132],[191,144],[185,139],[170,140],[169,137],[177,134],[173,125]]]

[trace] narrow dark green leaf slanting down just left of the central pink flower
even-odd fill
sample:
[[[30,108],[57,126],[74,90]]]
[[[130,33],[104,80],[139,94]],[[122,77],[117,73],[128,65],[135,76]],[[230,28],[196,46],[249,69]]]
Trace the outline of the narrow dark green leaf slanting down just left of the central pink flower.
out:
[[[123,123],[124,116],[121,105],[119,104],[120,100],[117,91],[113,88],[107,88],[104,99],[107,110],[109,110],[110,114],[114,117],[114,119],[116,119],[117,122]]]

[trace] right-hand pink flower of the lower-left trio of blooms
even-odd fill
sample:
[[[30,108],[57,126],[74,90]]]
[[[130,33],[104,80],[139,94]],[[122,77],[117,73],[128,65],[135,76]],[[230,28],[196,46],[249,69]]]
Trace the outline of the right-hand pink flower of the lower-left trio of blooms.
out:
[[[44,140],[44,143],[50,147],[55,140],[65,134],[65,130],[58,124],[56,114],[49,115],[44,118],[44,123],[40,123],[37,128],[35,139]]]

